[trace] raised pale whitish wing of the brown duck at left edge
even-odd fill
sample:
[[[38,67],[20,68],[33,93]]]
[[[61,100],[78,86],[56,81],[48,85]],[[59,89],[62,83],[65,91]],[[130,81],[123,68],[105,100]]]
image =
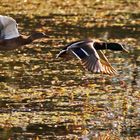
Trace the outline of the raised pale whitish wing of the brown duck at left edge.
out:
[[[0,24],[3,27],[1,29],[0,38],[11,39],[20,36],[17,29],[17,23],[13,18],[7,16],[0,16]]]

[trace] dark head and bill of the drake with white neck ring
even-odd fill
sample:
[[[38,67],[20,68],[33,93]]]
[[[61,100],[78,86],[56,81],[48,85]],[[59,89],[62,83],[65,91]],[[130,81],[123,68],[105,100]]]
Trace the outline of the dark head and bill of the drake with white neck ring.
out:
[[[127,52],[128,50],[126,50],[124,48],[125,45],[122,45],[120,43],[107,43],[107,49],[113,50],[113,51],[123,51],[123,52]]]

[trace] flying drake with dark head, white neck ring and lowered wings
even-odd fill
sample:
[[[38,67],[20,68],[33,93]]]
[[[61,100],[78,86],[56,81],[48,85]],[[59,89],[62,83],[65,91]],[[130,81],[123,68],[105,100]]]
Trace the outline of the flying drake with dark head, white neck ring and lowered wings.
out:
[[[84,67],[91,72],[104,73],[109,75],[117,74],[111,66],[102,50],[124,51],[128,52],[123,45],[119,43],[105,43],[101,41],[83,40],[76,41],[65,46],[57,55],[58,57],[75,56],[82,61]]]

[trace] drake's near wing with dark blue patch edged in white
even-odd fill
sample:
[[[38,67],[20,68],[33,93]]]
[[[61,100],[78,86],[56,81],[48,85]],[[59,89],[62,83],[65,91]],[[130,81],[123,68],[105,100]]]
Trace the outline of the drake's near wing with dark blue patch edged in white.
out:
[[[80,59],[84,67],[91,72],[102,72],[100,56],[93,47],[93,41],[84,41],[69,47],[69,52]]]

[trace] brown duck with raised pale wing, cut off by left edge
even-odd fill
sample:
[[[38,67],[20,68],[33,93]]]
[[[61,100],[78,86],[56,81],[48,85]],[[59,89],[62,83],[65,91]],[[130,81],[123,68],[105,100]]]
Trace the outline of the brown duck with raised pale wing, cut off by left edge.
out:
[[[30,36],[20,35],[16,21],[8,16],[0,15],[0,50],[13,50],[30,44],[36,39],[47,37],[44,33],[34,32]]]

